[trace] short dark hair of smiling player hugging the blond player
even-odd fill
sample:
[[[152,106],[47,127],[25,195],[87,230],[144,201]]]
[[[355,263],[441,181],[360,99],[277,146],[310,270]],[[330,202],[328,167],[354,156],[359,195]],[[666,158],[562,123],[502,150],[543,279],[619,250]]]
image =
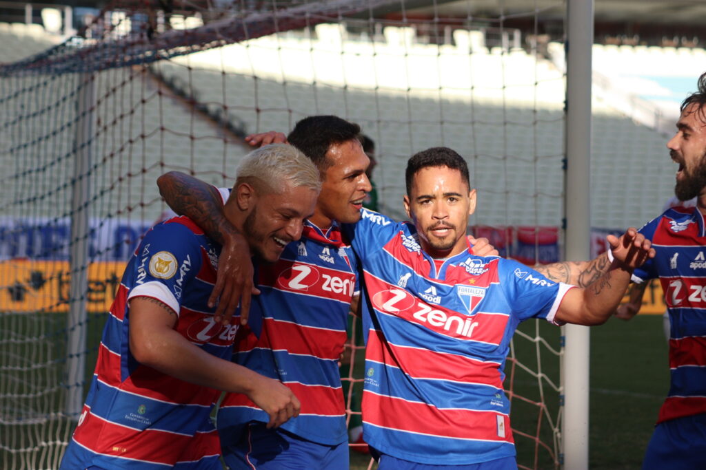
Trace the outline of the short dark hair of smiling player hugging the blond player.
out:
[[[326,152],[333,144],[359,140],[360,126],[337,116],[309,116],[294,125],[287,141],[313,161],[324,177],[330,166]]]

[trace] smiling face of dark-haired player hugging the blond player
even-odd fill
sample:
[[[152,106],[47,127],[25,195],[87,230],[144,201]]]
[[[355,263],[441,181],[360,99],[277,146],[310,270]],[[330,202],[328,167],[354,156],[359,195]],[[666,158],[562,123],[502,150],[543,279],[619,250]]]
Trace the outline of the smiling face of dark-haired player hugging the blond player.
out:
[[[320,228],[330,227],[332,221],[355,223],[371,190],[365,174],[370,159],[357,139],[331,145],[326,159],[331,165],[323,172],[321,194],[310,220]]]

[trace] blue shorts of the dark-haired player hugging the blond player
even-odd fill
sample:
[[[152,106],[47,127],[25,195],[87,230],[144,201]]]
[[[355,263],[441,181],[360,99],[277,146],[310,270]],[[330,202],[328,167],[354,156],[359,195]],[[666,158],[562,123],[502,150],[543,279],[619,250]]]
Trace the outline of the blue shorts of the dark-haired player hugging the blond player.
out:
[[[341,470],[349,467],[348,443],[324,445],[265,423],[249,423],[239,442],[221,443],[231,470]]]

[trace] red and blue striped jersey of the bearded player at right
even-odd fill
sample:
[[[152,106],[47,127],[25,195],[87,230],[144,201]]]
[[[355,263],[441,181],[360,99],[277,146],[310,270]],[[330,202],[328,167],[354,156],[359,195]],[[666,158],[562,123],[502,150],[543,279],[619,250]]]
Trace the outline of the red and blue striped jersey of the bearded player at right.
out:
[[[695,208],[674,207],[640,229],[657,256],[633,280],[659,278],[669,312],[669,394],[658,423],[706,413],[706,233]]]

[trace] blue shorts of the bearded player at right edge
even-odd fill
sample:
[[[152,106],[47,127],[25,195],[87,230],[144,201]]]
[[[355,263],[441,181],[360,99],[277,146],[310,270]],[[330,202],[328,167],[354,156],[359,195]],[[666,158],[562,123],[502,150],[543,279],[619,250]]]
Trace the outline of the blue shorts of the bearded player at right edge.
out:
[[[642,470],[706,469],[706,414],[670,419],[654,428]]]

